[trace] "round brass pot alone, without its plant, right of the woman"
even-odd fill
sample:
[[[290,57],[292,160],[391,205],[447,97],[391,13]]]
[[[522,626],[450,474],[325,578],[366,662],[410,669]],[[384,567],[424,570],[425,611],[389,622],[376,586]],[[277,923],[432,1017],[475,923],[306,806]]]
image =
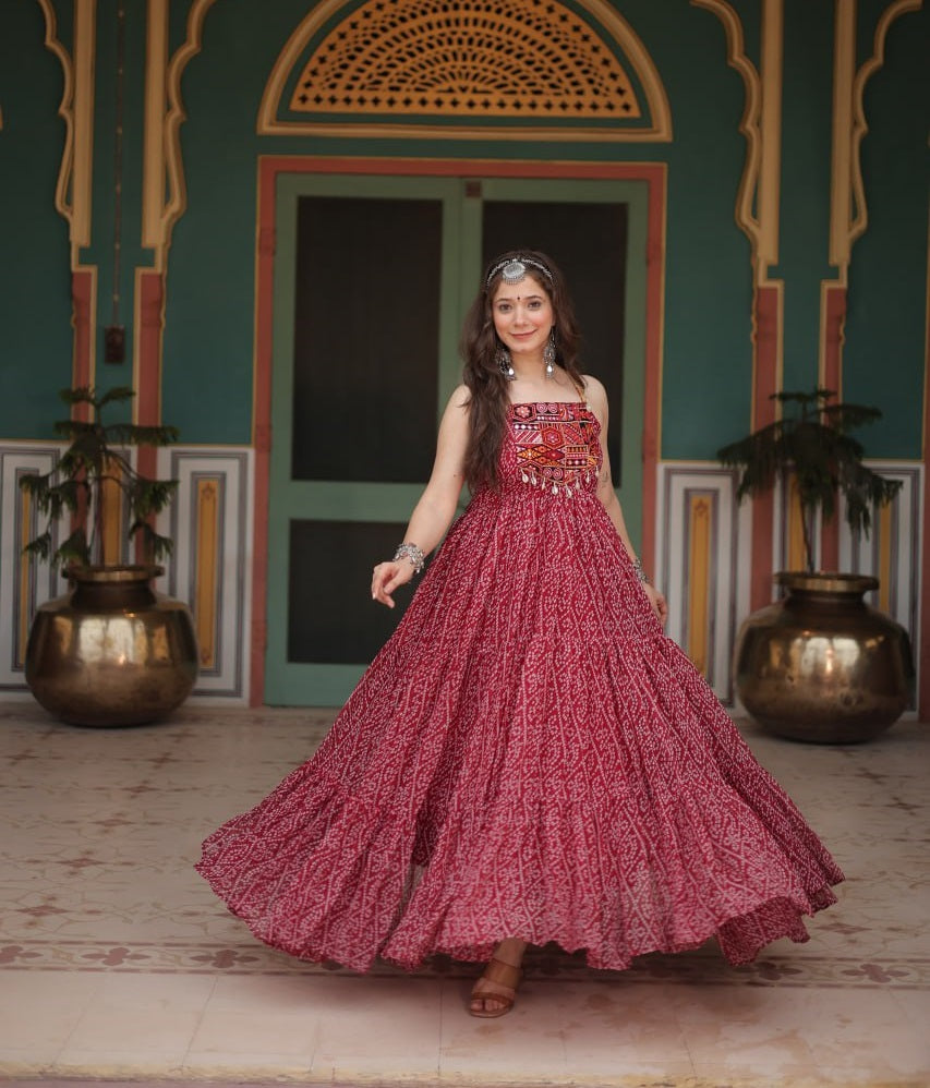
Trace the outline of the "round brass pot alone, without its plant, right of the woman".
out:
[[[878,580],[782,572],[786,596],[742,624],[736,690],[753,718],[797,740],[869,740],[907,709],[914,661],[907,631],[866,604]]]

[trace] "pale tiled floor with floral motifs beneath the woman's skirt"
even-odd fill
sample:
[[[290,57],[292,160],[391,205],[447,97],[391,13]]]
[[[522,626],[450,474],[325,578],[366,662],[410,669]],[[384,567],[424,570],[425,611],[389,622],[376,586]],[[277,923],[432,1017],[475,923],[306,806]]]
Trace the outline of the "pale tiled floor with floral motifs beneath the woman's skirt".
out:
[[[486,1085],[930,1085],[930,728],[861,747],[745,734],[845,869],[806,945],[733,969],[708,946],[596,974],[528,960],[515,1012],[474,968],[406,976],[255,942],[191,865],[303,760],[328,711],[88,730],[0,704],[0,1078]]]

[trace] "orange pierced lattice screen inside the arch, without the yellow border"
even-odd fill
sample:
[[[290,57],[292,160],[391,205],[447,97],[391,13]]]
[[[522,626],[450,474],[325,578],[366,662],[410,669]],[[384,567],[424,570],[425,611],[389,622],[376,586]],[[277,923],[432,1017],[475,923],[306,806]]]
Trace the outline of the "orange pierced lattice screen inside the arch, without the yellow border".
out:
[[[317,46],[295,112],[639,117],[636,92],[591,29],[552,5],[367,3]]]

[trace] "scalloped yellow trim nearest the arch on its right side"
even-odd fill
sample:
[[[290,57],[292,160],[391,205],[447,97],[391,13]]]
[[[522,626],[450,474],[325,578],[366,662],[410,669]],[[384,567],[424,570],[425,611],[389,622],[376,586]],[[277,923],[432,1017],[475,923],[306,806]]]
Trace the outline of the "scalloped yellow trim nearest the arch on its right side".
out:
[[[746,137],[746,166],[742,169],[742,177],[739,179],[739,188],[736,194],[735,218],[736,225],[749,239],[752,250],[756,283],[766,283],[769,269],[766,263],[762,259],[764,249],[762,243],[762,228],[753,210],[762,166],[762,131],[760,128],[762,117],[762,81],[756,65],[746,56],[742,23],[733,7],[726,0],[691,0],[691,4],[696,8],[704,8],[706,11],[713,12],[723,23],[724,31],[726,32],[726,62],[730,68],[739,72],[742,76],[742,85],[746,88],[746,102],[742,109],[742,117],[739,120],[739,131]],[[770,60],[770,77],[772,71],[771,64],[772,61]],[[770,114],[770,125],[771,123],[772,118]],[[771,162],[771,156],[769,161]],[[771,191],[770,185],[769,193]]]

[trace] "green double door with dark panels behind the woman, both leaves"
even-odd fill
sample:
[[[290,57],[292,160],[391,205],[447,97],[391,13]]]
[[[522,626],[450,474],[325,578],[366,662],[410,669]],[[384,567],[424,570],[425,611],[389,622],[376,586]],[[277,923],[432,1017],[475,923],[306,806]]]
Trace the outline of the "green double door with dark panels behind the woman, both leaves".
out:
[[[585,370],[641,518],[645,191],[639,182],[292,174],[276,216],[265,700],[339,705],[402,615],[371,602],[428,476],[486,261],[565,268]]]

